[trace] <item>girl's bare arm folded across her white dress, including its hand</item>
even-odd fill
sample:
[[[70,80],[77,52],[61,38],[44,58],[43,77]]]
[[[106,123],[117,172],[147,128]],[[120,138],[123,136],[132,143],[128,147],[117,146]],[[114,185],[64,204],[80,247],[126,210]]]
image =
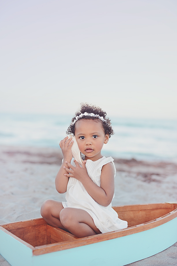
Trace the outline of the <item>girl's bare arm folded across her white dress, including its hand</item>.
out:
[[[101,184],[100,186],[97,186],[87,174],[87,169],[85,167],[86,161],[83,162],[82,167],[79,166],[77,161],[74,162],[76,167],[67,162],[68,167],[72,170],[70,170],[70,174],[68,174],[69,171],[64,167],[68,172],[65,175],[79,180],[89,195],[97,203],[102,206],[108,206],[111,203],[114,194],[114,169],[112,163],[109,162],[106,165],[103,165],[100,176]]]

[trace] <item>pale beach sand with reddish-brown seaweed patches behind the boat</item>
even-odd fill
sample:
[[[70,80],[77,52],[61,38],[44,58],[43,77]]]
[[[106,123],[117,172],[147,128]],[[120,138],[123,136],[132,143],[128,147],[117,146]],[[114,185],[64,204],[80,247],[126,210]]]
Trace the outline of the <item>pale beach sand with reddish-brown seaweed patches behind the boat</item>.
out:
[[[114,159],[113,206],[177,201],[177,164]],[[60,149],[0,146],[0,224],[41,217],[44,200],[65,199],[55,189],[61,162]],[[0,265],[9,264],[0,257]],[[177,243],[130,265],[177,265]]]

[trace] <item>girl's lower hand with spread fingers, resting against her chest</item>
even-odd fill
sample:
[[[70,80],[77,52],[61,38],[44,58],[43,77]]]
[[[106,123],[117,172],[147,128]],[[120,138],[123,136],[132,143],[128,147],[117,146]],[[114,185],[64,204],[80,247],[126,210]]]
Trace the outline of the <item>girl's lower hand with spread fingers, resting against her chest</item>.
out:
[[[88,176],[87,169],[85,167],[86,160],[83,161],[82,167],[80,167],[79,163],[76,160],[74,160],[74,162],[75,162],[76,167],[74,167],[73,165],[71,165],[69,162],[66,161],[66,164],[68,165],[70,169],[68,169],[65,166],[63,167],[68,172],[68,174],[64,174],[64,176],[73,177],[82,182],[82,179],[86,175]]]

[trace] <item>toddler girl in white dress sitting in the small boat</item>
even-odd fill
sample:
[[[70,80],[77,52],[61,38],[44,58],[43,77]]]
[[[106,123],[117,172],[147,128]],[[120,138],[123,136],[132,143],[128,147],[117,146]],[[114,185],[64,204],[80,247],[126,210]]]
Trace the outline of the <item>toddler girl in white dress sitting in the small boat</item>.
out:
[[[126,228],[127,222],[111,208],[116,171],[113,158],[101,155],[103,144],[114,134],[106,112],[83,104],[67,133],[75,136],[84,161],[81,165],[72,158],[71,138],[60,141],[64,159],[55,186],[59,193],[66,192],[66,202],[46,200],[41,206],[42,217],[77,237]]]

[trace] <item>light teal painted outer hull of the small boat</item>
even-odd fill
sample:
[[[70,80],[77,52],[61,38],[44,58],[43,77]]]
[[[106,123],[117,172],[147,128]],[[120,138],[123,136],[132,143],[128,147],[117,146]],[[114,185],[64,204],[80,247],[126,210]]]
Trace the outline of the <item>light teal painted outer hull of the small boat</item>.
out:
[[[107,266],[108,263],[123,266],[157,254],[176,243],[177,217],[141,232],[38,256],[33,254],[25,241],[18,241],[6,231],[4,228],[0,230],[0,254],[12,266]]]

